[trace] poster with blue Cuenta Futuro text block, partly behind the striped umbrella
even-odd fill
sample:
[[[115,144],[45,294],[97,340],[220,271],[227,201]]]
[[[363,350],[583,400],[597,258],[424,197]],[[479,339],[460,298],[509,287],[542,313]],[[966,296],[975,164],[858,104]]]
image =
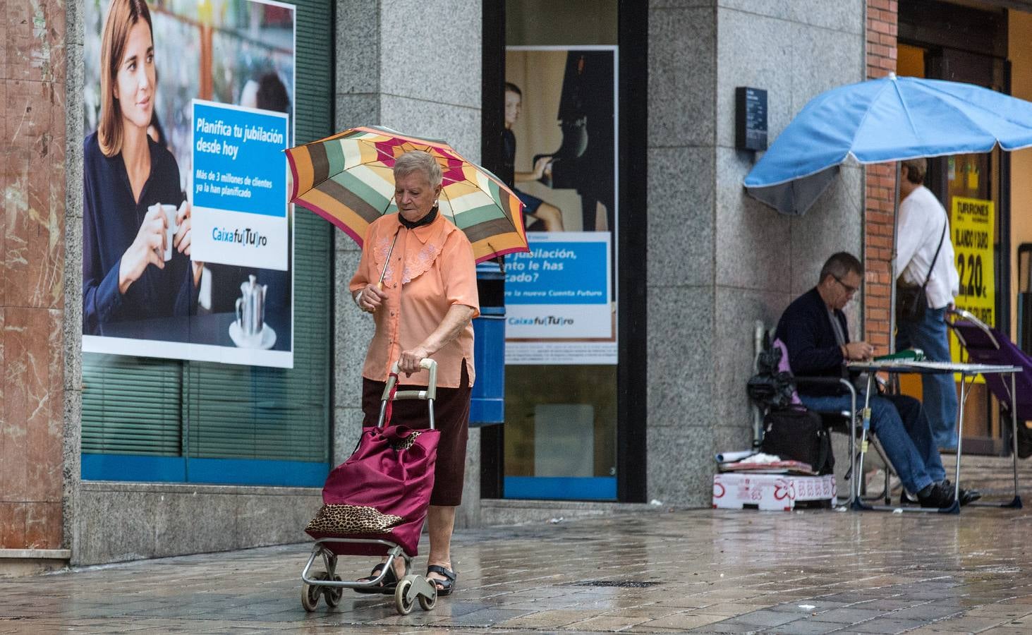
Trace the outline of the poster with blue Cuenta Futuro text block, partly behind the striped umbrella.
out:
[[[615,364],[615,46],[510,46],[502,179],[530,252],[506,259],[507,364]]]

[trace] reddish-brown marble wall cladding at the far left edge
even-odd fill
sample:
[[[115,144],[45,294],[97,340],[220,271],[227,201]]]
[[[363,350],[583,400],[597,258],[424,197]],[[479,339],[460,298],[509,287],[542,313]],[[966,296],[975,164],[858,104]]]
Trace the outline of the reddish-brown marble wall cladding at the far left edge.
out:
[[[0,548],[62,546],[65,6],[0,4]]]

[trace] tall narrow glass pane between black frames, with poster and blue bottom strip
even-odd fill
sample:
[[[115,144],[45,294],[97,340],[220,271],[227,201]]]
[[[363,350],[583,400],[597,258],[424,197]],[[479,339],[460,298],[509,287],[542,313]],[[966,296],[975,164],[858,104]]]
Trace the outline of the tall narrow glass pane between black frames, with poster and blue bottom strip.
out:
[[[501,495],[615,500],[618,2],[509,0],[505,24],[501,173],[531,252],[506,262]]]

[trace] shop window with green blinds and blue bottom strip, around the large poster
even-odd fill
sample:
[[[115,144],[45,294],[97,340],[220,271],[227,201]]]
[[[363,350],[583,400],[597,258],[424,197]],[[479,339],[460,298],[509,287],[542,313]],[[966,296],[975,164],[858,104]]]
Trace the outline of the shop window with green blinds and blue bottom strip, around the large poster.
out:
[[[333,13],[321,0],[294,4],[292,109],[295,140],[304,142],[332,132]],[[153,13],[164,8],[152,3]],[[228,73],[216,75],[200,77],[198,90],[212,98],[230,90],[220,84]],[[293,368],[84,353],[84,479],[322,484],[330,459],[332,232],[300,212],[293,233]]]

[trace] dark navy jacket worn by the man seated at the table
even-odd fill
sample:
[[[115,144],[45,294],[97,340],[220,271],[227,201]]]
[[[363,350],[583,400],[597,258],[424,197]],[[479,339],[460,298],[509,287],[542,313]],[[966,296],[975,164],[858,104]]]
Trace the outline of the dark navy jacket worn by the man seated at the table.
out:
[[[845,341],[849,342],[849,329],[845,314],[835,311],[835,317],[842,325]],[[842,349],[832,329],[828,306],[820,299],[816,287],[797,297],[781,314],[775,331],[777,339],[788,349],[788,364],[792,374],[806,377],[846,377]],[[840,388],[800,385],[802,394],[837,394]]]

